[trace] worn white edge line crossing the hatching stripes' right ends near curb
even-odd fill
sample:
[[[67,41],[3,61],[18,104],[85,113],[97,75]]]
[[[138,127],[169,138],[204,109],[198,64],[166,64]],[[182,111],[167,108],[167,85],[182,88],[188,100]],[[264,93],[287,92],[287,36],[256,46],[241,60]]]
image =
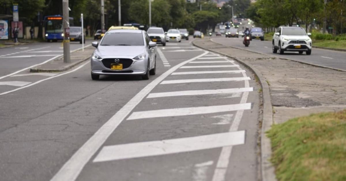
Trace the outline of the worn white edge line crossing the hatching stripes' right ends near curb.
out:
[[[238,69],[242,70],[240,67],[238,67]],[[245,72],[242,72],[242,74],[243,74],[243,77],[247,77]],[[249,85],[250,85],[249,81],[245,81],[245,87],[246,88],[250,87]],[[249,95],[249,92],[244,92],[242,99],[240,100],[240,103],[246,103],[248,95]],[[234,117],[234,120],[229,128],[230,132],[238,130],[240,121],[242,120],[242,117],[243,117],[243,113],[244,113],[244,110],[237,111]],[[226,171],[230,161],[229,158],[232,153],[232,148],[233,148],[232,146],[222,147],[218,162],[216,164],[212,181],[225,181]]]

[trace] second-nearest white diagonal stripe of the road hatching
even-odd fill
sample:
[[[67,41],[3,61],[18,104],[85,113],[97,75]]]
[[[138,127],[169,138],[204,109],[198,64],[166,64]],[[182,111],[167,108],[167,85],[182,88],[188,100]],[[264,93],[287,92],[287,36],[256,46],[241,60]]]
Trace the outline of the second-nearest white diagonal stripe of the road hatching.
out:
[[[171,116],[196,115],[196,114],[209,114],[209,113],[228,112],[228,111],[237,111],[237,110],[246,110],[246,109],[251,109],[251,103],[212,105],[212,106],[190,107],[190,108],[159,109],[159,110],[151,110],[151,111],[133,112],[126,120],[163,118],[163,117],[171,117]]]

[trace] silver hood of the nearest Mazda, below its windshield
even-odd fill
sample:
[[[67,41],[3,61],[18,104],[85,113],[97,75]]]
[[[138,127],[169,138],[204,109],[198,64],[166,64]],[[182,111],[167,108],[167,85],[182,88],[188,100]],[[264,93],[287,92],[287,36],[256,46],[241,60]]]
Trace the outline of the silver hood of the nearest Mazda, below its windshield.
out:
[[[145,46],[98,46],[95,53],[102,58],[135,58],[145,52]]]

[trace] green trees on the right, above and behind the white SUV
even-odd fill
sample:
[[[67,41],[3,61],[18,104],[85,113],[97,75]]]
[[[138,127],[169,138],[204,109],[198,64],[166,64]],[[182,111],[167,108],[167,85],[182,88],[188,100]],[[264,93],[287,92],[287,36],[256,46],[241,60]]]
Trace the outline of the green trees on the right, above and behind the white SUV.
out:
[[[304,25],[306,30],[322,29],[326,18],[330,33],[345,32],[346,6],[343,0],[257,0],[246,10],[257,26],[274,30],[282,25]],[[344,24],[344,25],[343,25]]]

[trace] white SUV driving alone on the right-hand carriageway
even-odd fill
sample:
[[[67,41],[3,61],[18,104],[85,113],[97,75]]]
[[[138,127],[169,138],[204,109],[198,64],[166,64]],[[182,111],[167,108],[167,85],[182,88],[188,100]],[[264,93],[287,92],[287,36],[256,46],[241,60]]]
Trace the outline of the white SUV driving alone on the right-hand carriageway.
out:
[[[273,53],[279,50],[280,54],[284,51],[304,51],[307,55],[311,54],[312,40],[311,33],[306,33],[300,27],[279,27],[273,36]]]

